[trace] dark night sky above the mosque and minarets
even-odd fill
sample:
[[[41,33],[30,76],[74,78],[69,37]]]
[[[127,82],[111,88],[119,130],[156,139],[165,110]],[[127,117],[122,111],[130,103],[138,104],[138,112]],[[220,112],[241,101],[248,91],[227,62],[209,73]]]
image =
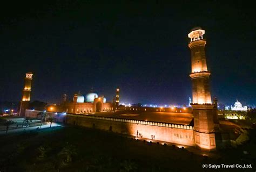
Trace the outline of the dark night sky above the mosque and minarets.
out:
[[[169,3],[167,3],[169,2]],[[192,95],[187,34],[201,26],[212,97],[256,104],[256,22],[244,1],[25,1],[1,5],[0,101],[59,102],[91,87],[109,101],[185,104]]]

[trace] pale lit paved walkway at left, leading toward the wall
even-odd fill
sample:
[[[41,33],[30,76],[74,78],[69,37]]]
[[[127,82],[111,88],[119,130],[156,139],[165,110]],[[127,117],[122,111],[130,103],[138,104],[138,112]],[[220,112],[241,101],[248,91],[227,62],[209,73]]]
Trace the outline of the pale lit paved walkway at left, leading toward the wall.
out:
[[[62,125],[60,124],[57,124],[57,123],[52,123],[51,124],[51,127],[60,127]],[[40,130],[40,129],[43,129],[43,128],[49,128],[50,127],[50,123],[46,123],[45,125],[42,125],[40,127],[39,126],[32,126],[32,127],[23,127],[23,128],[17,128],[17,129],[11,129],[11,130],[8,130],[7,134],[10,134],[10,133],[18,133],[18,132],[28,132],[28,131],[33,131],[33,130]],[[38,129],[37,129],[38,128]],[[0,131],[0,135],[2,134],[6,134],[6,131]]]

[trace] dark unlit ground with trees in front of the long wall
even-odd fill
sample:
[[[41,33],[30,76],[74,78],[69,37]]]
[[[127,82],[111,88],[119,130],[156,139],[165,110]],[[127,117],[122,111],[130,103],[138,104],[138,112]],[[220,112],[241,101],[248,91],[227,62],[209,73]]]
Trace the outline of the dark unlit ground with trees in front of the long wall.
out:
[[[212,159],[178,147],[150,144],[116,133],[71,126],[7,134],[0,138],[1,172],[206,171],[202,168],[203,164],[221,163],[252,164],[253,157],[242,154],[239,149],[225,150],[221,159]],[[255,171],[255,168],[221,171]]]

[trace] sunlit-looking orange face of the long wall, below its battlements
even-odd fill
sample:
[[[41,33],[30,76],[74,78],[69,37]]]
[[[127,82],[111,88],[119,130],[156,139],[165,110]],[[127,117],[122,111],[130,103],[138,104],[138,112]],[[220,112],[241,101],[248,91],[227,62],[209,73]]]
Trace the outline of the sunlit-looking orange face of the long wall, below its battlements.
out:
[[[83,117],[77,118],[75,116],[67,116],[66,123],[90,128],[93,127],[93,124],[95,124],[95,128],[106,131],[109,131],[110,126],[112,126],[113,132],[129,134],[133,136],[137,136],[138,130],[138,133],[142,133],[143,138],[151,139],[151,135],[155,135],[155,140],[194,146],[193,130],[187,130],[184,128],[134,124],[125,123],[122,121],[90,119]]]

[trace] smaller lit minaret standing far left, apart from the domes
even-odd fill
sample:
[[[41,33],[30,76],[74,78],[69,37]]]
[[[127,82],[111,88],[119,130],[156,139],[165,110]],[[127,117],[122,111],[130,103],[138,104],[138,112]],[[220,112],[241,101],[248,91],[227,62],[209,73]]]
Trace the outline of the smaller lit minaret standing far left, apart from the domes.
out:
[[[32,76],[31,72],[26,73],[24,89],[22,90],[22,101],[19,106],[19,116],[25,116],[25,111],[29,107]]]

